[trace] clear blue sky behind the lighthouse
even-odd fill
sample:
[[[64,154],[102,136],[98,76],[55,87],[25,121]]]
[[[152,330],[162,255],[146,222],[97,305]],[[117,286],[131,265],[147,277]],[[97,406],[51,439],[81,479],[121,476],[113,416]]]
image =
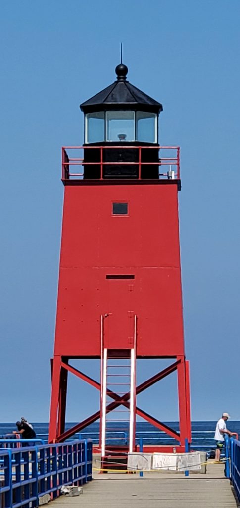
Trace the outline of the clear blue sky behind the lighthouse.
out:
[[[79,103],[114,81],[121,42],[130,82],[163,103],[161,144],[181,146],[192,419],[240,420],[239,16],[238,0],[2,3],[0,422],[49,418],[60,148],[83,143]],[[139,379],[157,368],[140,366]],[[143,409],[175,419],[174,383],[142,394]],[[78,421],[98,394],[70,388]]]

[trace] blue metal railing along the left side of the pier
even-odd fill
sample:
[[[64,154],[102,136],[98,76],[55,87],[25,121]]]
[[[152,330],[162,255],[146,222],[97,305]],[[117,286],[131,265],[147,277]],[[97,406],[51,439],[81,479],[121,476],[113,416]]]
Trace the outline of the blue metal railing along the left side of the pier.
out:
[[[91,480],[90,439],[0,449],[0,508],[38,506],[44,494],[54,499],[63,485]]]

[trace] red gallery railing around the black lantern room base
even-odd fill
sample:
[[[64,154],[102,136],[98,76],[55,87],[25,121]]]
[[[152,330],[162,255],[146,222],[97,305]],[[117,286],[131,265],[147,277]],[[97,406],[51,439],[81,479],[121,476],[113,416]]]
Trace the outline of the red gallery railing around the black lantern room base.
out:
[[[144,166],[158,166],[158,178],[159,179],[180,179],[180,147],[179,146],[125,146],[121,145],[121,148],[126,150],[138,150],[138,160],[136,162],[119,162],[119,161],[104,161],[104,151],[108,151],[111,149],[117,149],[119,150],[118,146],[63,146],[62,147],[62,180],[69,180],[69,179],[83,179],[84,178],[84,167],[87,168],[87,166],[96,166],[100,165],[101,168],[101,176],[100,180],[105,179],[103,174],[104,166],[107,165],[114,166],[114,165],[121,165],[121,166],[137,166],[138,167],[138,176],[137,179],[141,179],[141,168]],[[85,162],[84,160],[84,151],[86,150],[98,150],[100,151],[100,159],[99,161],[92,161],[92,162]],[[158,149],[159,159],[156,162],[142,162],[142,150],[149,150],[149,149]],[[73,152],[74,150],[74,152]],[[164,152],[165,156],[162,156],[162,153]],[[72,156],[73,155],[80,155],[80,156]],[[86,152],[85,152],[86,153]],[[108,157],[109,159],[109,157]],[[81,172],[74,171],[74,167],[77,166],[77,168],[81,167]],[[174,169],[172,169],[172,167]],[[163,169],[161,171],[161,168],[165,169],[163,172]],[[168,168],[168,171],[166,171]]]

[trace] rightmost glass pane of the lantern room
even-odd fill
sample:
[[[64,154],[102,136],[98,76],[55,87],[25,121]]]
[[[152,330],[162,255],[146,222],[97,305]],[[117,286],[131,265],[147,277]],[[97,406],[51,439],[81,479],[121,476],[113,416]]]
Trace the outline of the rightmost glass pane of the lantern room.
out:
[[[136,112],[136,140],[157,143],[157,115],[145,111]]]

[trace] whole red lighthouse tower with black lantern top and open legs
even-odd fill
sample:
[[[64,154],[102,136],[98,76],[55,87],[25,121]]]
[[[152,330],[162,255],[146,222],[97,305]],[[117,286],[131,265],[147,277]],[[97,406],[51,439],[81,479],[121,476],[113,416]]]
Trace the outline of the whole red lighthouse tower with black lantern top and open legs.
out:
[[[125,426],[127,449],[136,449],[136,415],[174,438],[178,450],[183,451],[186,439],[190,442],[179,147],[159,146],[162,104],[130,84],[127,72],[118,65],[116,81],[81,105],[84,146],[62,149],[64,208],[50,441],[100,420],[103,457],[116,422],[119,435]],[[70,362],[93,358],[99,359],[100,383]],[[168,359],[169,365],[136,386],[137,359]],[[140,409],[136,400],[174,371],[179,430],[163,423],[164,414],[160,421]],[[99,390],[100,407],[66,431],[68,372]]]

